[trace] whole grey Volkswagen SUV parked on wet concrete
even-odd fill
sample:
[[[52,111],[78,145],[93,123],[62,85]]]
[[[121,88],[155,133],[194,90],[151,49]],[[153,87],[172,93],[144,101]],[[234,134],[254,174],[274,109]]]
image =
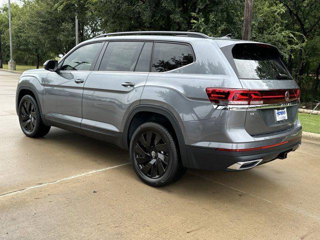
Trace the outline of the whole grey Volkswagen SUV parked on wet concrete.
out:
[[[152,186],[186,167],[243,170],[301,142],[299,88],[276,47],[196,32],[118,32],[25,71],[23,133],[56,126],[128,149]]]

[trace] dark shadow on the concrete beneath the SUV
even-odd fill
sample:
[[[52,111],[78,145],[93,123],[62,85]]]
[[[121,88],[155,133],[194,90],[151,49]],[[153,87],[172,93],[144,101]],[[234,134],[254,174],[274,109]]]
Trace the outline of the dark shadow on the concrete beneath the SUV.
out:
[[[73,154],[79,154],[80,157],[86,157],[101,165],[119,165],[130,161],[129,153],[126,150],[55,127],[41,139],[41,141],[43,140],[48,145],[63,145],[64,148],[66,146]],[[127,177],[133,181],[140,182],[132,167],[129,165],[126,168],[128,170],[124,170],[123,173],[127,174]],[[251,190],[254,191],[257,188],[263,188],[263,191],[266,192],[275,191],[280,187],[281,185],[273,180],[272,177],[263,174],[263,171],[256,171],[254,168],[239,172],[207,171],[189,168],[185,175],[177,182],[156,189],[172,192],[184,198],[202,196],[206,199],[208,197],[215,198],[218,192],[221,193],[225,190],[231,190],[238,196],[238,194],[243,195],[245,192],[252,194]],[[241,191],[243,192],[241,193]]]

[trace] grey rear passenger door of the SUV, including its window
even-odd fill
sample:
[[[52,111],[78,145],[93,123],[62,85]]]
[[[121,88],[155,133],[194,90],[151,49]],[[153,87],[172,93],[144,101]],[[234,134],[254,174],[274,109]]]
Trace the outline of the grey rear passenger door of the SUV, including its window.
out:
[[[152,44],[109,41],[101,51],[99,66],[84,84],[81,129],[85,134],[121,146],[123,121],[139,104]]]

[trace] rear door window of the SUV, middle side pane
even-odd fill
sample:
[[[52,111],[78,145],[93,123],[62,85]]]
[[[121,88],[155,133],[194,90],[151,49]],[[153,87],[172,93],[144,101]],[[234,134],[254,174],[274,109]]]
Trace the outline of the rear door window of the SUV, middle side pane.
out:
[[[133,71],[140,54],[141,41],[110,41],[103,54],[100,71]]]

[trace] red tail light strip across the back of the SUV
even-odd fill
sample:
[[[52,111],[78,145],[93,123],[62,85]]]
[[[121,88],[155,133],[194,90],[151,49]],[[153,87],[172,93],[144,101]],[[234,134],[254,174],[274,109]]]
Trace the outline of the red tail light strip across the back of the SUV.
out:
[[[214,104],[273,104],[298,100],[299,89],[249,90],[207,87],[206,94]]]

